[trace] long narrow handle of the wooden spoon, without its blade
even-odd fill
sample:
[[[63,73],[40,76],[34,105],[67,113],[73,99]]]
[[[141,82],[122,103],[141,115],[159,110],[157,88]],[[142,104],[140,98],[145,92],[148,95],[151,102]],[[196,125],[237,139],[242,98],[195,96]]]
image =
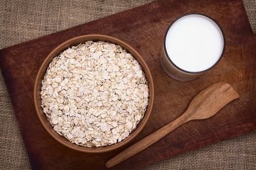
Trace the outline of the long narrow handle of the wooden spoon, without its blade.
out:
[[[187,119],[185,117],[185,114],[182,114],[180,117],[170,122],[169,124],[163,126],[162,128],[158,129],[153,134],[141,139],[137,143],[133,144],[129,148],[125,149],[121,153],[114,156],[112,159],[110,159],[106,163],[106,167],[107,168],[113,167],[119,164],[120,162],[134,156],[135,154],[143,151],[144,149],[148,148],[149,146],[151,146],[152,144],[157,142],[159,139],[166,136],[167,134],[169,134],[170,132],[172,132],[173,130],[175,130],[177,127],[184,124],[185,122],[187,122]]]

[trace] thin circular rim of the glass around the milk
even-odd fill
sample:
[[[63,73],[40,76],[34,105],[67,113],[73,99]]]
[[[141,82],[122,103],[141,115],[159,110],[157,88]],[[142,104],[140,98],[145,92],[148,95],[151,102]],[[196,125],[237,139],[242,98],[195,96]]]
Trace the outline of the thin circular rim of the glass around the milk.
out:
[[[216,25],[218,26],[218,28],[219,28],[219,30],[220,30],[220,32],[221,32],[221,34],[222,34],[222,37],[223,37],[223,49],[222,49],[222,52],[221,52],[221,54],[220,54],[220,56],[219,56],[219,59],[217,60],[217,62],[216,62],[213,66],[211,66],[210,68],[207,68],[207,69],[205,69],[205,70],[202,70],[202,71],[187,71],[187,70],[185,70],[185,69],[179,68],[176,64],[174,64],[174,62],[171,60],[171,58],[169,57],[169,55],[168,55],[168,53],[167,53],[167,51],[166,51],[165,41],[166,41],[166,36],[167,36],[167,33],[168,33],[169,29],[171,28],[171,26],[172,26],[178,19],[180,19],[180,18],[182,18],[182,17],[185,17],[185,16],[189,16],[189,15],[201,15],[201,16],[204,16],[204,17],[208,17],[209,19],[211,19],[212,21],[214,21],[214,22],[216,23]],[[206,71],[208,71],[208,70],[214,68],[214,67],[218,64],[218,62],[221,60],[221,58],[222,58],[222,56],[223,56],[223,54],[224,54],[224,51],[225,51],[225,44],[226,44],[226,40],[225,40],[224,32],[223,32],[222,28],[220,27],[220,25],[217,23],[217,21],[216,21],[215,19],[213,19],[212,17],[209,17],[209,16],[207,16],[207,15],[205,15],[205,14],[202,14],[202,13],[187,13],[187,14],[184,14],[184,15],[182,15],[182,16],[177,17],[177,18],[168,26],[168,28],[167,28],[167,30],[166,30],[166,32],[165,32],[165,35],[164,35],[164,43],[163,43],[163,46],[164,46],[164,52],[165,52],[165,54],[166,54],[168,60],[169,60],[176,68],[178,68],[179,70],[184,71],[184,72],[186,72],[186,73],[190,73],[190,74],[199,74],[199,73],[203,73],[203,72],[206,72]]]

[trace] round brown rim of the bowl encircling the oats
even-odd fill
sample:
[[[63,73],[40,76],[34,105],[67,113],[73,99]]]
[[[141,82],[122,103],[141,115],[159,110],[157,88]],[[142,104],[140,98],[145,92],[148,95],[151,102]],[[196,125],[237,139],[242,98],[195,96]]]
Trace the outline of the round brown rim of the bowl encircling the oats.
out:
[[[98,41],[100,41],[100,39],[105,39],[105,41],[109,40],[109,41],[115,41],[117,43],[114,43],[116,45],[119,45],[122,47],[122,45],[120,44],[123,44],[124,46],[127,47],[124,48],[122,47],[124,50],[126,51],[132,51],[132,55],[135,56],[135,59],[138,61],[138,58],[140,61],[138,61],[138,63],[140,64],[140,66],[142,66],[141,63],[143,63],[143,72],[145,73],[145,70],[147,70],[147,75],[145,73],[145,75],[147,76],[147,81],[148,81],[148,85],[149,85],[149,102],[148,102],[148,105],[147,105],[147,108],[146,108],[146,112],[143,116],[143,118],[139,121],[140,123],[140,127],[139,128],[135,128],[130,134],[130,138],[125,138],[123,139],[121,142],[117,142],[116,144],[112,144],[112,145],[107,145],[107,146],[103,146],[103,147],[86,147],[86,146],[79,146],[75,143],[71,143],[70,141],[68,141],[67,139],[65,139],[63,136],[63,139],[64,140],[67,140],[68,142],[64,142],[62,139],[60,139],[60,135],[57,133],[57,132],[53,132],[53,128],[52,129],[49,129],[49,126],[47,126],[47,122],[45,122],[43,120],[43,116],[45,116],[45,114],[43,113],[43,116],[42,114],[40,113],[40,110],[42,110],[41,108],[41,104],[39,103],[39,101],[41,102],[41,99],[38,98],[38,96],[40,95],[38,92],[38,87],[39,85],[41,85],[41,74],[45,75],[45,73],[42,73],[44,72],[44,69],[49,66],[49,63],[52,61],[52,59],[56,56],[53,56],[53,54],[56,52],[56,51],[59,51],[59,49],[67,46],[68,44],[72,43],[73,41],[77,40],[77,39],[87,39],[85,41],[89,41],[89,39],[98,39]],[[97,40],[95,40],[97,41]],[[103,40],[102,40],[103,41]],[[111,42],[113,43],[113,42]],[[68,47],[72,47],[74,45],[69,45],[67,46]],[[49,59],[51,58],[51,59]],[[148,80],[150,79],[150,80]],[[149,83],[150,82],[150,83]],[[151,92],[151,93],[150,93]],[[113,151],[113,150],[116,150],[124,145],[126,145],[127,143],[129,143],[130,141],[132,141],[136,136],[138,136],[138,134],[142,131],[142,129],[144,128],[144,126],[146,125],[150,115],[151,115],[151,112],[152,112],[152,109],[153,109],[153,103],[154,103],[154,98],[155,98],[155,88],[154,88],[154,82],[153,82],[153,77],[152,77],[152,74],[151,74],[151,71],[148,67],[148,65],[146,64],[145,60],[142,58],[142,56],[138,53],[138,51],[136,51],[133,47],[131,47],[129,44],[123,42],[122,40],[118,39],[118,38],[115,38],[113,36],[109,36],[109,35],[103,35],[103,34],[85,34],[85,35],[80,35],[80,36],[76,36],[76,37],[73,37],[71,39],[68,39],[66,41],[64,41],[63,43],[61,43],[59,46],[57,46],[56,48],[54,48],[47,56],[46,58],[44,59],[44,61],[42,62],[42,64],[40,65],[40,68],[37,72],[37,77],[36,77],[36,81],[35,81],[35,84],[34,84],[34,105],[35,105],[35,108],[36,108],[36,112],[37,112],[37,115],[38,115],[38,118],[41,122],[41,124],[43,125],[44,129],[47,131],[48,134],[50,134],[50,136],[52,136],[55,140],[57,140],[59,143],[61,143],[62,145],[70,148],[70,149],[73,149],[73,150],[76,150],[76,151],[79,151],[79,152],[83,152],[83,153],[105,153],[105,152],[109,152],[109,151]],[[146,114],[147,113],[147,114]],[[46,118],[46,116],[45,116]],[[48,121],[48,120],[47,120]],[[49,121],[48,121],[49,122]],[[49,122],[50,124],[50,122]],[[50,124],[51,125],[51,124]],[[52,126],[51,126],[52,127]],[[57,137],[58,136],[58,137]],[[127,139],[127,140],[126,140]],[[92,148],[95,148],[92,149]]]

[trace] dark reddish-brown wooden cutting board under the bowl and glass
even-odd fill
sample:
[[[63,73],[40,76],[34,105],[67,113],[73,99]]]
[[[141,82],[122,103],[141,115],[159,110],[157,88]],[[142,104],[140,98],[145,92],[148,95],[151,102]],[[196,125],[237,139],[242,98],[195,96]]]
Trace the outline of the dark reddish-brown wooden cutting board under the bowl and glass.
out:
[[[217,20],[226,37],[219,64],[197,80],[176,81],[159,63],[168,25],[180,15],[199,12]],[[37,71],[47,54],[82,34],[107,34],[131,44],[144,57],[155,82],[152,116],[130,144],[115,152],[86,154],[59,144],[44,130],[33,103]],[[211,119],[191,121],[113,169],[135,169],[208,144],[256,130],[256,38],[241,0],[162,0],[104,17],[0,51],[0,68],[33,169],[105,169],[105,162],[182,114],[191,99],[216,82],[234,86],[240,98]]]

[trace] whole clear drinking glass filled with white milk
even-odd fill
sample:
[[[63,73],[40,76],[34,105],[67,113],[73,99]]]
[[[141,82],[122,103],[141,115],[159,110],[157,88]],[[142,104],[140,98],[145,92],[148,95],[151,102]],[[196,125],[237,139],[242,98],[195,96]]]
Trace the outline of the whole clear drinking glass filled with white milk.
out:
[[[213,18],[189,13],[170,24],[162,48],[160,62],[165,72],[189,81],[217,65],[225,50],[225,37]]]

